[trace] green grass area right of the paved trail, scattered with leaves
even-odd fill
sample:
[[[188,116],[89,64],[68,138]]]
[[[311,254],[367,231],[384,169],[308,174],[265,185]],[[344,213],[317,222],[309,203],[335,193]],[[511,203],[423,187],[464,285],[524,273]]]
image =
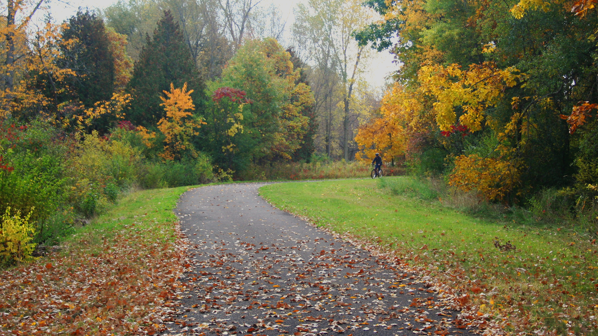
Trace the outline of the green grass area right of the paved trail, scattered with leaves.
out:
[[[438,200],[393,196],[369,179],[272,184],[260,194],[425,267],[506,331],[598,334],[598,250],[573,231],[473,218]]]

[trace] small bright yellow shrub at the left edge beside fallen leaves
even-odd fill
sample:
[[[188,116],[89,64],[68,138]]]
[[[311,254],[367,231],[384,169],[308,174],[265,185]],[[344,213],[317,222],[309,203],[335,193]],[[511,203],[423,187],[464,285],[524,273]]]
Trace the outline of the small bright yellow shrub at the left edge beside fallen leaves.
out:
[[[32,242],[35,227],[30,222],[33,209],[25,217],[20,210],[11,215],[11,207],[7,207],[1,218],[0,226],[0,260],[4,265],[32,259],[35,243]]]

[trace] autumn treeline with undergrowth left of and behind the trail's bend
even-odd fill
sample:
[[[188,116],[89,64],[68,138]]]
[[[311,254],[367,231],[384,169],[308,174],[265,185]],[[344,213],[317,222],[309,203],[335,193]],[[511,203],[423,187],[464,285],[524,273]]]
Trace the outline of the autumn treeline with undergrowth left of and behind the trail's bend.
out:
[[[310,1],[289,26],[255,0],[119,1],[64,22],[44,5],[2,2],[3,264],[131,187],[365,175],[320,164],[354,159],[379,101],[360,1]]]

